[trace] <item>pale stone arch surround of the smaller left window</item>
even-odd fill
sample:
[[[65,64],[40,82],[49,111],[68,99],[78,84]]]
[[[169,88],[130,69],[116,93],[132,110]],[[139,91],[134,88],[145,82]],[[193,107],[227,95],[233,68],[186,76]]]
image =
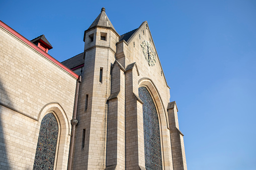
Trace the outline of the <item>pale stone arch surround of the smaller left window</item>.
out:
[[[68,118],[66,116],[65,111],[63,110],[63,108],[59,103],[57,102],[48,103],[39,112],[39,115],[38,115],[39,128],[40,128],[43,117],[48,113],[52,113],[55,116],[59,125],[59,135],[57,140],[54,169],[67,168],[69,141],[70,141],[70,134],[71,134]]]

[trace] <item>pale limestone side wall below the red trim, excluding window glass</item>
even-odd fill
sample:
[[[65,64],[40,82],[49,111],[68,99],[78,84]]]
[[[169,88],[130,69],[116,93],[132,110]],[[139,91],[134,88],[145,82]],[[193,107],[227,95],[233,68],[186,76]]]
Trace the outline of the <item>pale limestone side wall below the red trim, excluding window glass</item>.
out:
[[[3,27],[0,57],[0,169],[33,168],[41,120],[48,112],[60,129],[55,166],[65,169],[76,78]]]

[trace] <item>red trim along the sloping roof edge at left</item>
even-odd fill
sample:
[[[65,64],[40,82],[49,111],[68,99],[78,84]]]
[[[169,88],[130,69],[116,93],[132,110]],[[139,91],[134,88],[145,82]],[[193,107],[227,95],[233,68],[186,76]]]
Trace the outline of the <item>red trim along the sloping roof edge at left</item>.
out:
[[[51,60],[52,62],[54,62],[55,64],[57,64],[58,66],[60,66],[61,68],[63,68],[64,70],[66,70],[68,73],[70,73],[71,75],[73,75],[74,77],[78,78],[78,75],[75,74],[73,71],[71,71],[70,69],[68,69],[66,66],[64,66],[63,64],[61,64],[60,62],[58,62],[55,58],[53,58],[52,56],[50,56],[49,54],[47,54],[46,52],[44,52],[43,50],[41,50],[39,47],[37,47],[34,43],[31,43],[28,39],[26,39],[25,37],[23,37],[22,35],[20,35],[18,32],[16,32],[15,30],[13,30],[11,27],[9,27],[8,25],[6,25],[5,23],[3,23],[0,20],[0,26],[4,27],[6,30],[8,30],[10,33],[12,33],[13,35],[15,35],[17,38],[19,38],[20,40],[24,41],[25,43],[27,43],[29,46],[31,46],[33,49],[35,49],[36,51],[38,51],[39,53],[41,53],[42,55],[44,55],[45,57],[47,57],[49,60]]]

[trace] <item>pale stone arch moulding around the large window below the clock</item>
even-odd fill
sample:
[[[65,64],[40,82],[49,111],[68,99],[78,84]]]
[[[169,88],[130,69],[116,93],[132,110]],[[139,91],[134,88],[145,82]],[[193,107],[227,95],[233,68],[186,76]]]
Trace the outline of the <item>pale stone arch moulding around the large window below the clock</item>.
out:
[[[138,87],[146,87],[148,92],[155,103],[156,111],[158,113],[160,124],[160,138],[161,138],[161,151],[162,151],[162,166],[163,169],[173,169],[172,163],[172,147],[170,145],[170,128],[168,123],[168,116],[165,111],[162,99],[158,90],[149,78],[142,78],[138,81]]]

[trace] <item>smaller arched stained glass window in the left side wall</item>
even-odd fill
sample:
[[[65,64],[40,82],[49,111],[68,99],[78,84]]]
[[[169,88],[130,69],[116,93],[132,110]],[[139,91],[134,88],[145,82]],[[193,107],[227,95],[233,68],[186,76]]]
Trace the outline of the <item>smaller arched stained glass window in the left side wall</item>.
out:
[[[33,169],[53,169],[57,138],[57,120],[52,113],[48,113],[41,122]]]

